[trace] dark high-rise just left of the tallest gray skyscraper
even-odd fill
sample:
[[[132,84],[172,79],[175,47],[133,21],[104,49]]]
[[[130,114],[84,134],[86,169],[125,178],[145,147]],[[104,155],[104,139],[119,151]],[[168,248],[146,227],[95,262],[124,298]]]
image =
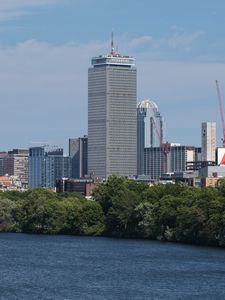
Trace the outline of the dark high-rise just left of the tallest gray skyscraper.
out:
[[[69,139],[69,156],[72,159],[72,177],[84,178],[88,175],[88,137]]]

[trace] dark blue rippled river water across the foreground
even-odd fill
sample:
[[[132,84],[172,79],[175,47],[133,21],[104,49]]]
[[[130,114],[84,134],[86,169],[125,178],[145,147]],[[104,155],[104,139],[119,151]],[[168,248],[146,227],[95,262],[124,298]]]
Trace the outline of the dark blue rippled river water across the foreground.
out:
[[[225,249],[0,234],[0,299],[225,299]]]

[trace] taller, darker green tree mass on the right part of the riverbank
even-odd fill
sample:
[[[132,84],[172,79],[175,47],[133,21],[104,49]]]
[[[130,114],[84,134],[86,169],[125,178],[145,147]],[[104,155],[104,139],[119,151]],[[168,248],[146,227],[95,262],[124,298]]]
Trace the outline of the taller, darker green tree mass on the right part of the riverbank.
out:
[[[225,182],[218,189],[149,187],[112,176],[94,196],[108,235],[225,246]]]

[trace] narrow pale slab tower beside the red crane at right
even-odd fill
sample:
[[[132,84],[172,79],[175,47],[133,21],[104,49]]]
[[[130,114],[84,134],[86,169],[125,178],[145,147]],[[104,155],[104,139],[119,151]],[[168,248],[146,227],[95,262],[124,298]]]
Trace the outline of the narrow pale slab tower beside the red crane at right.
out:
[[[202,161],[216,160],[216,123],[202,123]]]

